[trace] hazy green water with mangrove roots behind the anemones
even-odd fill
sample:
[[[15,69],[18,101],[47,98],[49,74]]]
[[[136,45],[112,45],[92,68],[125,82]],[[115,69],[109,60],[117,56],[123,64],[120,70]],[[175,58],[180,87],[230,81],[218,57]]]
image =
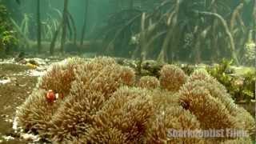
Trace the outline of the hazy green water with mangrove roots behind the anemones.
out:
[[[37,3],[40,2],[41,40],[48,42],[42,47],[49,49],[54,33],[63,22],[64,0],[0,2],[7,7],[22,33],[34,42],[38,40]],[[63,41],[76,42],[66,47],[77,47],[83,35],[90,46],[81,45],[82,48],[115,57],[189,63],[214,63],[226,58],[233,59],[236,65],[254,65],[256,6],[252,0],[67,2],[70,16],[64,22]],[[62,30],[58,31],[56,47],[61,45]],[[85,51],[82,49],[79,53]]]

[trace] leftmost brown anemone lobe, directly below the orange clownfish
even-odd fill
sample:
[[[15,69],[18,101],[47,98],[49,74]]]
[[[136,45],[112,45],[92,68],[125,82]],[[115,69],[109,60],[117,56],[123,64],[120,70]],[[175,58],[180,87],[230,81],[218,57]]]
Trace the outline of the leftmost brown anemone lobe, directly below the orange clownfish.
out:
[[[18,108],[18,124],[25,130],[44,131],[60,102],[48,102],[45,90],[34,90]]]

